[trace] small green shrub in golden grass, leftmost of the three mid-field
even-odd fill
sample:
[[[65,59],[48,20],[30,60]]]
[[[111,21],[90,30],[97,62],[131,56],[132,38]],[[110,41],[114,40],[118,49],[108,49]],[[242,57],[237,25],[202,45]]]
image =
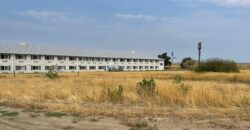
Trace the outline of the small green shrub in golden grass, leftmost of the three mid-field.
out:
[[[119,85],[116,88],[108,88],[108,97],[112,102],[120,102],[123,99],[123,87]]]

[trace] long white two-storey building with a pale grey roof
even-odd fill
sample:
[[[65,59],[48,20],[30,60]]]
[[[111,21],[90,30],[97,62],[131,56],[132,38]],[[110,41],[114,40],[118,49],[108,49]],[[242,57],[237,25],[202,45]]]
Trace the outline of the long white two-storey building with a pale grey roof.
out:
[[[164,70],[164,60],[133,53],[96,52],[27,44],[0,44],[0,73]]]

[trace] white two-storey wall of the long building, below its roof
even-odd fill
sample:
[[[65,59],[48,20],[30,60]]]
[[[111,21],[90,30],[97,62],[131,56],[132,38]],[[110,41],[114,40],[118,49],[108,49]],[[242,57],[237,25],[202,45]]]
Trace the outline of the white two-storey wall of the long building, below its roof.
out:
[[[1,54],[0,54],[1,55]],[[53,60],[45,60],[45,56],[42,55],[39,60],[32,60],[31,55],[25,55],[26,59],[16,59],[16,55],[10,54],[9,59],[1,59],[0,57],[0,67],[9,66],[9,70],[1,70],[0,73],[44,73],[48,70],[45,70],[46,66],[65,66],[66,70],[62,70],[62,72],[78,72],[78,71],[106,71],[104,68],[123,66],[124,71],[146,71],[146,70],[164,70],[164,61],[157,59],[128,59],[128,58],[92,58],[92,60],[84,60],[79,61],[79,57],[77,57],[76,61],[70,61],[69,56],[65,56],[65,60],[58,60],[58,56],[53,56]],[[90,58],[91,59],[91,58]],[[99,59],[99,60],[98,60]],[[105,61],[108,59],[108,61]],[[116,61],[113,61],[115,59]],[[121,61],[124,59],[125,61]],[[130,60],[130,62],[128,62]],[[134,61],[136,60],[136,61]],[[146,60],[148,62],[146,62]],[[18,68],[22,68],[25,70],[17,70]],[[40,66],[39,70],[32,70],[32,66]],[[70,70],[70,66],[75,66],[75,70]],[[86,70],[80,70],[80,66],[86,66]],[[90,69],[91,66],[96,69]],[[99,69],[100,66],[103,66]],[[128,67],[129,66],[129,67]]]

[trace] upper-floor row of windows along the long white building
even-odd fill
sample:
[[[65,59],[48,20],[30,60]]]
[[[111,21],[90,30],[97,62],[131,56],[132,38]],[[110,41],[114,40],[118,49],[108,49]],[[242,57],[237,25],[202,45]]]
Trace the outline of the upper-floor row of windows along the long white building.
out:
[[[40,55],[31,55],[31,60],[41,60]],[[66,56],[45,56],[45,60],[57,60],[66,61]],[[27,55],[15,55],[17,60],[26,60]],[[0,59],[10,59],[10,54],[0,54]],[[125,58],[93,58],[93,57],[69,57],[69,61],[113,61],[113,62],[159,62],[159,60],[147,60],[147,59],[125,59]]]

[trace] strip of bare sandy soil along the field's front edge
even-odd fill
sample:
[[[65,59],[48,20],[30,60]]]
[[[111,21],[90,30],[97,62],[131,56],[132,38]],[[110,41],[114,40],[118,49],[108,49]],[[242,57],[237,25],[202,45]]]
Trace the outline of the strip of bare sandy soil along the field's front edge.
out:
[[[136,128],[136,127],[141,128]],[[133,129],[132,129],[133,128]],[[207,119],[112,118],[0,106],[0,130],[249,130],[250,121]]]

